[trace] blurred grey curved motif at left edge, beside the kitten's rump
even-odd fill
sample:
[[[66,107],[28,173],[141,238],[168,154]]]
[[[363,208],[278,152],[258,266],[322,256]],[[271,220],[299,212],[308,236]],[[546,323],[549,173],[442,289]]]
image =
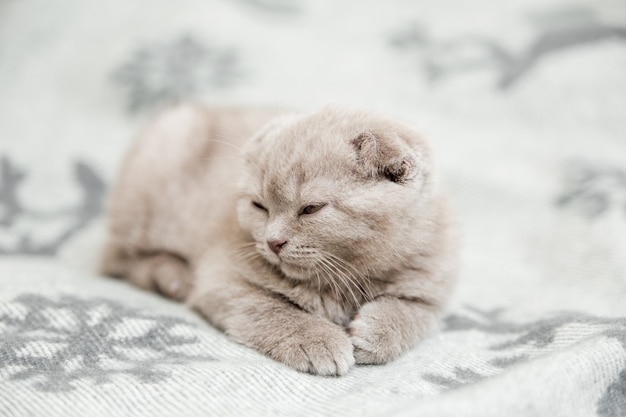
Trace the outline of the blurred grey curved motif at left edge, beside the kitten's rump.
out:
[[[97,172],[82,161],[74,162],[74,182],[80,192],[80,202],[75,207],[50,211],[27,207],[20,189],[27,172],[16,166],[9,157],[0,157],[0,234],[12,234],[15,244],[1,245],[0,255],[54,255],[77,232],[101,214],[106,185]],[[56,222],[66,219],[65,227],[46,241],[37,241],[28,232],[14,231],[11,227],[21,220]],[[15,233],[19,235],[15,236]]]

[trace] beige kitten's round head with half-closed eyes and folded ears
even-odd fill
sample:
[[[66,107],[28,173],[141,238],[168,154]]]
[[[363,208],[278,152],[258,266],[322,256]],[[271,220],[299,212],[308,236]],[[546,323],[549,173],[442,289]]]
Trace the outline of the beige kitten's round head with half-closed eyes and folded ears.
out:
[[[238,218],[285,276],[316,280],[401,267],[432,223],[431,157],[411,128],[326,109],[270,123],[246,149]]]

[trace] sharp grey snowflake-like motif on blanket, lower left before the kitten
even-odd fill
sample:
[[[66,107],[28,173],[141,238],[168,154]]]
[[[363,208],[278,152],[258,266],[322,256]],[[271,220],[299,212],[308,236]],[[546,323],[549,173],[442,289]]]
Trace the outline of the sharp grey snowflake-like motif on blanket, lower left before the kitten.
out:
[[[0,374],[32,380],[42,391],[73,390],[83,380],[103,384],[116,375],[158,383],[170,375],[163,365],[212,360],[190,352],[198,343],[192,323],[107,299],[24,294],[0,308]],[[180,336],[181,329],[190,336]]]

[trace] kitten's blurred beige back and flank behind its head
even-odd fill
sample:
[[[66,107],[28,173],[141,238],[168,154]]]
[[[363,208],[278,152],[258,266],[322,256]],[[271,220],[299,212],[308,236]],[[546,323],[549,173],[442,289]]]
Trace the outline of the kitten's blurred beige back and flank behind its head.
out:
[[[241,146],[279,112],[181,104],[129,150],[110,200],[110,233],[131,251],[196,257],[234,221]]]

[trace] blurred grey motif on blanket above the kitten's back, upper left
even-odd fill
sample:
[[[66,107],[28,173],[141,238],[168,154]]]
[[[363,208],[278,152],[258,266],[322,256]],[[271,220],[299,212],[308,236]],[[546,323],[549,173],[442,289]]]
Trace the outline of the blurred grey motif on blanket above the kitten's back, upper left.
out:
[[[191,35],[139,48],[113,73],[127,93],[130,111],[227,88],[241,76],[238,55]]]

